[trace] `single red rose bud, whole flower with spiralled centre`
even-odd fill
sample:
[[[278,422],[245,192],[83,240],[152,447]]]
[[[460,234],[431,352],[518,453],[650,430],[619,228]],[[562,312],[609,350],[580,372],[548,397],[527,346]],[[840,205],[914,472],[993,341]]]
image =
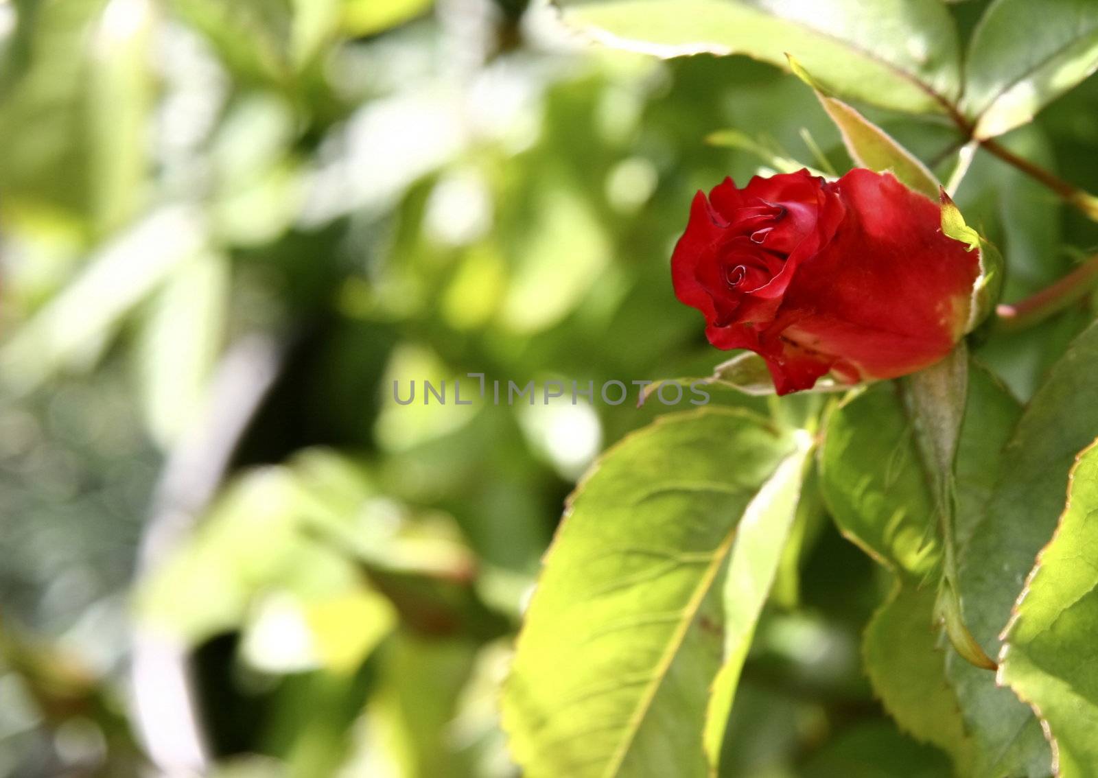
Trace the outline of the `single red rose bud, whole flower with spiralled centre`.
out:
[[[671,272],[709,342],[755,351],[788,394],[829,372],[856,383],[942,359],[966,330],[981,268],[978,250],[942,234],[935,203],[856,169],[698,192]]]

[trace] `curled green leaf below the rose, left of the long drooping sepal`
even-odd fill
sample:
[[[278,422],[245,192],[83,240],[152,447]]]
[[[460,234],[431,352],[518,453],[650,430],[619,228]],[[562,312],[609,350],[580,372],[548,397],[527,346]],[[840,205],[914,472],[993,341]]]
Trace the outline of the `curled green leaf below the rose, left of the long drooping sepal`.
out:
[[[871,386],[831,414],[820,476],[840,531],[897,574],[863,639],[874,690],[916,737],[948,751],[963,747],[963,723],[933,640],[941,559],[933,499],[914,426],[893,385]],[[928,697],[931,689],[938,691]]]

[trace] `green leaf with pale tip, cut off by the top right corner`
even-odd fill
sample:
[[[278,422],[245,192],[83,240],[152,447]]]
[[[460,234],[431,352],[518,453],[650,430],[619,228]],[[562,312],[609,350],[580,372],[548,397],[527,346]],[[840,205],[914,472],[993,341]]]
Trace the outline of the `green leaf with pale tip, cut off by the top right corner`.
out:
[[[975,136],[1030,122],[1098,68],[1098,4],[1090,0],[998,0],[973,34],[962,110]]]

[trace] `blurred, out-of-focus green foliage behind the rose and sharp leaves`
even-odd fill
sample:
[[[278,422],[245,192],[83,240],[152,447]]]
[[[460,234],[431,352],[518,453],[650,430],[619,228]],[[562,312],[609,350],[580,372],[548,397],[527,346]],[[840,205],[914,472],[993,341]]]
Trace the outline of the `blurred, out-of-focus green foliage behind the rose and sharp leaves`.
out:
[[[0,33],[0,773],[516,775],[496,700],[538,560],[666,408],[392,382],[707,374],[671,246],[751,146],[850,167],[811,91],[516,0],[14,0]],[[1004,143],[1098,179],[1098,84]],[[1007,298],[1098,244],[984,153],[957,201]],[[1087,306],[979,357],[1024,401]],[[949,774],[860,669],[890,576],[821,511],[792,548],[728,774]]]

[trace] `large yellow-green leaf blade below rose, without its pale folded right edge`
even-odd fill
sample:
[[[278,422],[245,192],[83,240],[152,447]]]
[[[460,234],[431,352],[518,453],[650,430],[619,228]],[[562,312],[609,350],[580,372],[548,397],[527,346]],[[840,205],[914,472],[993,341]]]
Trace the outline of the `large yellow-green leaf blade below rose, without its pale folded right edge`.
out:
[[[743,411],[664,416],[607,452],[570,500],[503,697],[537,776],[702,776],[720,590],[744,516],[803,458]]]

